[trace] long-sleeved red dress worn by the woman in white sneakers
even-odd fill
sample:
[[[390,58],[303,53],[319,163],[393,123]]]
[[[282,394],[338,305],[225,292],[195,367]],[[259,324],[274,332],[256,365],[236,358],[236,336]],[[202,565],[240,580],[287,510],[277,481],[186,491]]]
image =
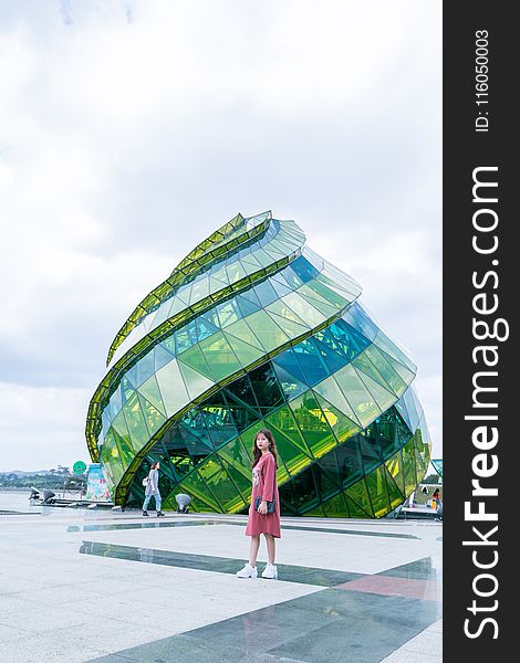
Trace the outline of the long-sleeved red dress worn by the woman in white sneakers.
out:
[[[277,538],[280,534],[280,497],[278,495],[277,462],[271,452],[262,454],[260,460],[252,469],[252,495],[251,506],[249,507],[248,526],[246,536],[258,536],[259,534],[272,534]],[[262,501],[277,501],[277,507],[273,514],[259,514],[254,511],[256,497]]]

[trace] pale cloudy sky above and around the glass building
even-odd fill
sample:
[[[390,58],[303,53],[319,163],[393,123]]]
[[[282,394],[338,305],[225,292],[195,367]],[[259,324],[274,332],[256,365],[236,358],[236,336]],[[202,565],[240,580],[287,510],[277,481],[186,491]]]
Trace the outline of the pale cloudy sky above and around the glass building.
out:
[[[441,440],[439,0],[0,0],[0,471],[89,461],[135,305],[294,219],[418,365]]]

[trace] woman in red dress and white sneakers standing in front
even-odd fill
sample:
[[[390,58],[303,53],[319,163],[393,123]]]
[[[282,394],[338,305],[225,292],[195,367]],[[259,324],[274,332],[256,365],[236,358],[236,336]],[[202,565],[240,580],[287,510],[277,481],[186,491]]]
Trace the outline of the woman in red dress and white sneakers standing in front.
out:
[[[239,578],[258,578],[257,555],[260,547],[260,535],[263,534],[269,561],[263,569],[262,578],[277,579],[274,539],[281,537],[280,497],[277,486],[277,445],[269,429],[262,429],[257,433],[252,453],[252,495],[246,527],[246,536],[251,537],[249,562],[237,572],[237,576]],[[268,502],[272,501],[274,501],[274,512],[268,513]],[[254,508],[256,502],[259,503],[258,511]]]

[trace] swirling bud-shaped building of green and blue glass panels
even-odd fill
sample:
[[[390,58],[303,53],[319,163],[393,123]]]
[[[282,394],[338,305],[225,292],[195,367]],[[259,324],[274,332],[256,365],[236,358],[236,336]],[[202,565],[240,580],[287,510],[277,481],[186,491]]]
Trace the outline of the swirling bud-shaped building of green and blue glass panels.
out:
[[[285,515],[379,518],[425,476],[431,444],[407,354],[360,285],[294,221],[238,214],[135,308],[108,351],[86,439],[114,502],[141,506],[160,461],[166,508],[245,513],[261,428]]]

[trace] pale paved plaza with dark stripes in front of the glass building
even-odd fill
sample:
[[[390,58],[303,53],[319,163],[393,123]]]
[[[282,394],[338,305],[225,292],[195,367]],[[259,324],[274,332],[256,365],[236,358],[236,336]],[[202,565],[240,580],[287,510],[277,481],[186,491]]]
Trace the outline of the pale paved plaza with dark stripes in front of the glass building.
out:
[[[441,661],[441,523],[282,518],[279,580],[235,577],[245,524],[0,493],[0,651],[10,663]],[[266,559],[262,541],[260,570]]]

